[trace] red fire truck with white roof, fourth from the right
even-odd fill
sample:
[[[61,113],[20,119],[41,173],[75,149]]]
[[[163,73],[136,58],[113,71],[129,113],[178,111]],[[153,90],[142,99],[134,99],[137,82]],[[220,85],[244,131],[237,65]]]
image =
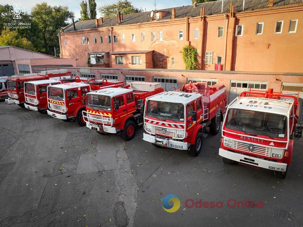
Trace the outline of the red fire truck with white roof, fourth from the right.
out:
[[[70,82],[48,86],[48,115],[63,121],[76,120],[85,126],[82,110],[85,110],[86,93],[109,87],[121,87],[121,81]]]

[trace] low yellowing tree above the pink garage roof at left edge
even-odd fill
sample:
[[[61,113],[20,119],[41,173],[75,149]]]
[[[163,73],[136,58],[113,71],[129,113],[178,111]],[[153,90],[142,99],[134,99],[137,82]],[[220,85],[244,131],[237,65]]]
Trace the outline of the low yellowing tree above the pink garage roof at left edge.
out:
[[[35,51],[34,45],[26,38],[20,37],[17,30],[2,30],[0,35],[0,46],[15,46]]]

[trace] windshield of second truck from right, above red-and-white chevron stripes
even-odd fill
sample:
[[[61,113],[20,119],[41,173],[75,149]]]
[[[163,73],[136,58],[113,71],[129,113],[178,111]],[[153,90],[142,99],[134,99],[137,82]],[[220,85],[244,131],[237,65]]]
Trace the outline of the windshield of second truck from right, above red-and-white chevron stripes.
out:
[[[149,100],[146,115],[158,119],[184,122],[184,105],[181,103]]]

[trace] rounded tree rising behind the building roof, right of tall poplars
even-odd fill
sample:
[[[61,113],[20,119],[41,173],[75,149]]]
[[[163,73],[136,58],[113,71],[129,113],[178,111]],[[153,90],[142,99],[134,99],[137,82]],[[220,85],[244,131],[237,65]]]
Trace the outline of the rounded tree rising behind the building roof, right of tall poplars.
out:
[[[117,10],[121,11],[122,14],[143,12],[142,8],[136,8],[128,0],[118,1],[117,3],[104,5],[99,8],[99,12],[103,17],[113,17],[117,14]]]

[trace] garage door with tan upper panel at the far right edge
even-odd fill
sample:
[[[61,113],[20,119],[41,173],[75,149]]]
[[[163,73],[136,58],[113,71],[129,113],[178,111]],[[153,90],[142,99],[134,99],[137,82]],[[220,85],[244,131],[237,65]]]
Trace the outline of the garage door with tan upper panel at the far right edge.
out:
[[[300,83],[282,83],[283,94],[297,95],[299,93],[299,123],[303,123],[303,84]]]

